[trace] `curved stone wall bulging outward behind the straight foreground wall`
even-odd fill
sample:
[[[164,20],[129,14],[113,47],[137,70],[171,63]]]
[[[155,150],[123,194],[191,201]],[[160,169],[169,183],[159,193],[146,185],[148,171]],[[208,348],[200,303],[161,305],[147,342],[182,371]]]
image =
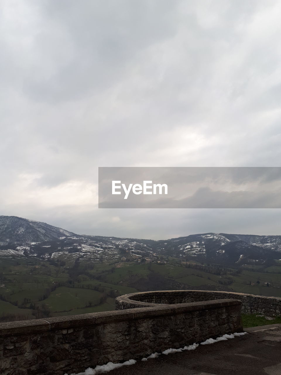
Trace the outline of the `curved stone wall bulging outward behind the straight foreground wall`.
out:
[[[281,315],[281,298],[253,294],[205,290],[164,290],[125,294],[117,297],[116,310],[202,302],[217,299],[237,299],[242,302],[243,314]]]

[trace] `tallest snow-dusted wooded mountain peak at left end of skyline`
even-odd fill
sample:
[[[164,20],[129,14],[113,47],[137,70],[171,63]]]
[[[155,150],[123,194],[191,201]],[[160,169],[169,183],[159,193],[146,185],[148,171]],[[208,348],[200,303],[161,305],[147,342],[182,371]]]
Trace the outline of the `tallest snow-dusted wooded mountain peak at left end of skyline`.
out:
[[[17,216],[0,216],[0,245],[22,245],[73,235],[72,232],[39,221]]]

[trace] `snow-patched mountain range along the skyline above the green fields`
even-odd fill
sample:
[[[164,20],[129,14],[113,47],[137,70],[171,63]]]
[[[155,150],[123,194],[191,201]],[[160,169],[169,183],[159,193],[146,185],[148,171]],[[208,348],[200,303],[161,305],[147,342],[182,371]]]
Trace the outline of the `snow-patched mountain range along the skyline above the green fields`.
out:
[[[281,258],[281,236],[192,234],[169,240],[78,235],[55,226],[0,216],[0,257],[39,257],[74,263],[157,260],[157,256],[228,265],[266,264]]]

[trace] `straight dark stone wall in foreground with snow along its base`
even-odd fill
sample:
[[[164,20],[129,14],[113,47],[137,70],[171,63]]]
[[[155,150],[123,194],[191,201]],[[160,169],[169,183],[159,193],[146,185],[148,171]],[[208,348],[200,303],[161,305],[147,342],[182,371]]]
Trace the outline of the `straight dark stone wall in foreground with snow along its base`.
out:
[[[78,373],[242,330],[235,299],[0,323],[0,374]]]

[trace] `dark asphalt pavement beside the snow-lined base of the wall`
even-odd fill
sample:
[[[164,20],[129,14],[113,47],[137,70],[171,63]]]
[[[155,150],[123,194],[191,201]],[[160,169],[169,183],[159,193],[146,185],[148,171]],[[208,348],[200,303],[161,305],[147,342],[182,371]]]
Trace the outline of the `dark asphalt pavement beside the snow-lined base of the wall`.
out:
[[[112,375],[281,375],[281,324],[245,329],[248,335],[161,355]]]

